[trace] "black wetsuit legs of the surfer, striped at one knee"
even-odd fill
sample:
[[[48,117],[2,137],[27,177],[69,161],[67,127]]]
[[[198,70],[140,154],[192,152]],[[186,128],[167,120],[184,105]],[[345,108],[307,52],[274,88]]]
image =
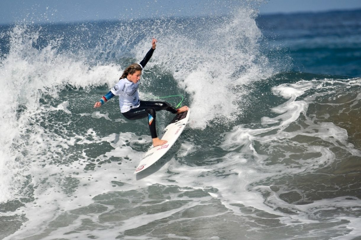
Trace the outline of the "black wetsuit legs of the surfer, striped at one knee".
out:
[[[160,101],[140,101],[138,108],[130,109],[123,113],[123,116],[129,120],[136,120],[148,117],[149,130],[152,138],[157,137],[156,130],[156,111],[167,110],[171,113],[177,113],[177,109],[171,107],[169,103]]]

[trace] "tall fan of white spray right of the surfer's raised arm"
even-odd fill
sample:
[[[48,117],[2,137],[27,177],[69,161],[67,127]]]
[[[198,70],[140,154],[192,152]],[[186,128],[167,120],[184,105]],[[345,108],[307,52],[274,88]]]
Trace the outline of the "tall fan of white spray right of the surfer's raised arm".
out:
[[[246,8],[229,17],[182,23],[175,19],[158,34],[153,64],[170,73],[190,97],[192,127],[204,129],[217,119],[234,121],[247,104],[246,86],[273,73],[262,54],[256,16],[257,12]],[[139,57],[143,54],[143,48],[136,52]]]

